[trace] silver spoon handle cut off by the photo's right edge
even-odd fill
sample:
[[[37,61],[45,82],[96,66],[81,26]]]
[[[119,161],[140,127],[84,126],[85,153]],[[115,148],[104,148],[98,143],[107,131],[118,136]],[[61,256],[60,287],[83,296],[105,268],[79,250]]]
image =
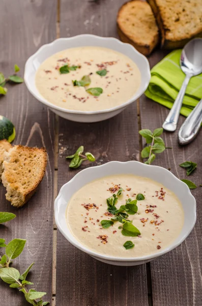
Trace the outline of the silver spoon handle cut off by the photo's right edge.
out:
[[[202,99],[195,106],[191,114],[184,121],[178,133],[180,144],[191,142],[197,135],[202,122]]]

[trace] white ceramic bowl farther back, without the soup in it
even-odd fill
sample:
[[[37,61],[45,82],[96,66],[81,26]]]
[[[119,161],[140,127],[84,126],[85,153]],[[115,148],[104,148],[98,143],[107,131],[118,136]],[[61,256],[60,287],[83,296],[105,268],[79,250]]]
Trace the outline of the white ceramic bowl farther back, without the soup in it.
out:
[[[38,91],[35,85],[35,75],[39,66],[51,55],[60,52],[64,49],[80,47],[80,46],[99,46],[116,50],[125,54],[133,60],[141,72],[141,85],[133,97],[124,104],[113,107],[111,109],[83,112],[67,110],[58,107],[48,102]],[[33,94],[35,98],[47,105],[55,114],[77,122],[96,122],[111,118],[122,112],[129,104],[139,98],[147,89],[150,82],[150,65],[145,56],[140,54],[132,45],[123,43],[120,40],[112,37],[100,37],[90,34],[82,34],[69,38],[59,38],[51,43],[45,44],[32,55],[25,64],[24,82],[27,89]]]

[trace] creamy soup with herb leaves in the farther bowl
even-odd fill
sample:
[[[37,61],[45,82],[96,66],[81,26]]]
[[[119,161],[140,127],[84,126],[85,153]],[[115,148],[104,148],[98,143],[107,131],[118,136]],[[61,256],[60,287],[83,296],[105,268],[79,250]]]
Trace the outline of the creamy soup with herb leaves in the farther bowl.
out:
[[[56,53],[36,73],[37,89],[45,99],[56,106],[79,111],[121,105],[134,95],[140,82],[140,71],[130,58],[92,46]]]

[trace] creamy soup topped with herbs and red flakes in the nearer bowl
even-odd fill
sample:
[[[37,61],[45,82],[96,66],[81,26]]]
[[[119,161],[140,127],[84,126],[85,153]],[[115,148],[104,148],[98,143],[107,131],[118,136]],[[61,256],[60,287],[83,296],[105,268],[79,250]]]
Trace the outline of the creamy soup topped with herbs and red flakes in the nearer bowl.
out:
[[[113,194],[118,199],[111,209]],[[132,204],[126,205],[126,200]],[[122,214],[116,213],[121,206]],[[177,196],[162,184],[127,174],[82,187],[69,201],[66,218],[73,236],[85,247],[108,256],[141,257],[166,248],[178,237],[184,211]]]

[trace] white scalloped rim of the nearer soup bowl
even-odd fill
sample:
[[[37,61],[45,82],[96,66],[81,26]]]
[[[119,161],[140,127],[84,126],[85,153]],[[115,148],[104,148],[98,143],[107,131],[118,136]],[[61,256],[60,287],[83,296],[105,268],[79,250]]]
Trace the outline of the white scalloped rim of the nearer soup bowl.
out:
[[[126,165],[126,164],[131,164],[131,168],[132,166],[134,165],[141,165],[140,167],[143,168],[148,168],[148,171],[152,172],[154,171],[155,169],[158,169],[160,171],[162,171],[162,175],[167,175],[167,177],[169,178],[169,180],[175,180],[175,184],[178,184],[179,188],[181,187],[182,189],[184,189],[184,192],[187,192],[187,201],[189,199],[189,202],[191,202],[192,200],[192,214],[193,214],[193,221],[192,223],[190,224],[189,227],[186,227],[186,233],[184,234],[184,236],[179,239],[179,236],[180,234],[182,233],[183,231],[183,228],[184,226],[187,226],[187,224],[185,224],[184,222],[184,225],[183,225],[183,228],[179,234],[179,236],[169,245],[167,246],[166,248],[164,248],[163,250],[159,251],[159,252],[156,252],[156,253],[152,253],[152,254],[149,254],[147,256],[142,256],[142,257],[130,257],[130,258],[124,258],[124,257],[114,257],[114,256],[107,256],[107,255],[103,255],[101,253],[98,253],[96,251],[93,251],[91,249],[89,249],[88,247],[85,247],[82,243],[80,243],[74,236],[73,234],[70,232],[70,235],[67,235],[66,232],[63,230],[63,227],[61,226],[60,224],[60,220],[59,220],[59,212],[58,212],[58,205],[59,205],[59,202],[60,202],[60,198],[63,194],[63,191],[64,189],[69,186],[69,185],[72,185],[74,183],[76,183],[76,181],[84,176],[88,176],[88,172],[90,171],[98,171],[101,169],[101,168],[106,168],[108,167],[109,165],[114,165],[114,167],[119,167],[119,165]],[[151,170],[150,170],[151,169]],[[147,172],[148,172],[147,171]],[[120,171],[121,172],[121,171]],[[114,174],[114,173],[111,173],[111,175]],[[121,173],[123,174],[123,173]],[[128,174],[128,173],[125,173],[125,174]],[[131,173],[130,173],[131,174]],[[110,175],[110,174],[109,174]],[[117,172],[117,175],[119,175],[119,171]],[[139,174],[135,174],[134,175],[139,175]],[[104,175],[100,175],[98,177],[104,177]],[[144,177],[148,177],[146,175],[144,175]],[[93,179],[94,180],[94,179]],[[91,180],[91,181],[93,181]],[[154,180],[155,181],[155,180]],[[90,182],[90,181],[89,181]],[[156,181],[158,182],[158,181]],[[86,185],[88,183],[84,183],[84,185]],[[166,186],[165,186],[166,187]],[[77,190],[79,190],[80,188],[78,188]],[[169,188],[168,188],[169,189]],[[74,194],[74,193],[73,193]],[[72,194],[72,195],[73,195]],[[71,195],[71,196],[72,196]],[[70,198],[71,198],[70,196]],[[66,209],[67,209],[67,205],[68,205],[68,202],[66,203]],[[183,203],[182,203],[183,205]],[[65,211],[66,211],[65,209]],[[184,210],[184,208],[183,208]],[[184,211],[185,213],[185,211]],[[189,211],[189,214],[190,214],[190,211]],[[55,222],[56,222],[56,225],[57,227],[59,228],[59,231],[63,234],[63,236],[72,244],[74,245],[75,247],[77,247],[78,249],[84,251],[85,253],[88,253],[89,255],[93,256],[93,257],[96,257],[96,258],[100,258],[100,259],[104,259],[104,260],[108,260],[108,261],[121,261],[121,262],[136,262],[136,261],[148,261],[148,260],[152,260],[152,259],[155,259],[169,251],[171,251],[172,249],[176,248],[177,246],[179,246],[187,237],[188,235],[191,233],[191,231],[193,230],[193,227],[195,225],[195,222],[196,222],[196,200],[194,198],[194,196],[191,194],[188,186],[182,182],[181,180],[179,180],[174,174],[172,174],[170,171],[168,171],[167,169],[163,168],[163,167],[160,167],[160,166],[153,166],[153,165],[146,165],[146,164],[143,164],[143,163],[140,163],[140,162],[137,162],[137,161],[128,161],[128,162],[119,162],[119,161],[112,161],[112,162],[108,162],[108,163],[105,163],[103,165],[100,165],[100,166],[94,166],[94,167],[89,167],[89,168],[86,168],[86,169],[83,169],[81,170],[80,172],[78,172],[69,182],[67,182],[66,184],[64,184],[61,189],[60,189],[60,192],[59,194],[57,195],[57,197],[55,198],[55,201],[54,201],[54,216],[55,216]],[[66,218],[66,217],[65,217]],[[67,226],[67,224],[66,224]],[[67,226],[68,228],[68,226]],[[66,228],[66,230],[67,230]],[[73,239],[72,239],[72,237]]]

